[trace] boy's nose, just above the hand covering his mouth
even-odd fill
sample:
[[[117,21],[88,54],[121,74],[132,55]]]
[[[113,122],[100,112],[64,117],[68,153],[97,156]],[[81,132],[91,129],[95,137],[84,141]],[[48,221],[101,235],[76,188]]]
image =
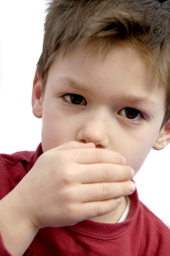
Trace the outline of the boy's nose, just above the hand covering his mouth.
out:
[[[109,145],[110,120],[106,111],[95,109],[83,117],[77,140],[83,143],[93,142],[98,148]]]

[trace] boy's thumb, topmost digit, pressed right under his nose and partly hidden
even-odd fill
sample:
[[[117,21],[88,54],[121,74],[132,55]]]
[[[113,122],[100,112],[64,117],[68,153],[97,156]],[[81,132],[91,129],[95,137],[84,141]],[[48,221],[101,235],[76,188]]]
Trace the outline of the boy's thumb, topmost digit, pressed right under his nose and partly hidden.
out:
[[[67,149],[76,149],[76,148],[95,148],[94,143],[82,143],[82,142],[77,142],[77,141],[70,141],[67,142],[63,145],[60,145],[56,148],[51,148],[48,150],[48,152],[53,152],[53,151],[60,151],[60,150],[67,150]]]

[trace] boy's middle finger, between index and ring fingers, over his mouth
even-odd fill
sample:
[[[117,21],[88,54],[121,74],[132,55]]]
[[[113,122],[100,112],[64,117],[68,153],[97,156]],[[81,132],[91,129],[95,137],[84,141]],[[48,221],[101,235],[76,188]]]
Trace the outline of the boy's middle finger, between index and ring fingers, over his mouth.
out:
[[[81,169],[81,172],[79,169]],[[127,165],[107,163],[81,164],[72,178],[81,183],[100,183],[131,180],[134,175],[134,170]]]

